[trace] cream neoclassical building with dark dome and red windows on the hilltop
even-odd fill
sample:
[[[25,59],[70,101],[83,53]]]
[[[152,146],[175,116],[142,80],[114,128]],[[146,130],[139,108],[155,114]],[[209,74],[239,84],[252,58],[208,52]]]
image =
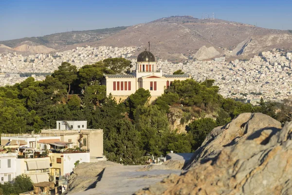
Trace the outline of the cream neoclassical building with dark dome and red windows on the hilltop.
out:
[[[155,57],[144,51],[138,55],[136,70],[128,75],[105,75],[102,84],[107,86],[107,96],[126,99],[139,88],[149,90],[152,99],[161,96],[174,80],[185,80],[189,75],[164,75],[156,67]]]

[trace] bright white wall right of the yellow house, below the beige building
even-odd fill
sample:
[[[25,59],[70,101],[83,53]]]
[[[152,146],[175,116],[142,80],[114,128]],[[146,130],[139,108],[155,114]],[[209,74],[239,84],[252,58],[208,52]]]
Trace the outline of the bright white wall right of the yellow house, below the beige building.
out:
[[[75,167],[74,163],[79,160],[81,162],[90,162],[90,153],[68,153],[64,154],[64,175],[71,173]]]

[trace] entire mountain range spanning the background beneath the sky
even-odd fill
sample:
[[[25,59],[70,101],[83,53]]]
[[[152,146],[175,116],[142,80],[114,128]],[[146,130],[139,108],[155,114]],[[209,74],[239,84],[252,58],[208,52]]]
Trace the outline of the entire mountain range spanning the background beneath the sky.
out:
[[[268,40],[268,41],[266,41]],[[292,33],[260,28],[250,24],[219,20],[174,16],[129,27],[116,27],[91,31],[72,31],[53,35],[0,41],[9,47],[31,41],[60,51],[76,46],[138,46],[148,48],[156,57],[171,61],[192,59],[195,56],[246,58],[273,48],[292,49]],[[205,46],[212,49],[196,53]],[[203,48],[205,48],[203,47]],[[135,55],[138,55],[138,51]],[[227,52],[234,50],[233,52]],[[135,56],[134,55],[134,56]]]

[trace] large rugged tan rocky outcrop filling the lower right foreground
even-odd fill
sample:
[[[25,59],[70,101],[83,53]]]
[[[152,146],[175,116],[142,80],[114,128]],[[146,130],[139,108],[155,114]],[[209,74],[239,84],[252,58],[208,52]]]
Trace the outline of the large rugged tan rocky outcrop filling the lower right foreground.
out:
[[[136,195],[290,195],[291,174],[292,122],[245,113],[215,128],[186,172]]]

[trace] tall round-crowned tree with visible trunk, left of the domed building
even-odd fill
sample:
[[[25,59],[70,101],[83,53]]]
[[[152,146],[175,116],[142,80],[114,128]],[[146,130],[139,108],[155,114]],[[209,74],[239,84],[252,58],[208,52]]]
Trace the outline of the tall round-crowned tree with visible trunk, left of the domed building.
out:
[[[61,83],[68,86],[67,99],[71,90],[71,84],[77,78],[77,67],[68,62],[62,62],[58,70],[52,74],[52,77],[57,78]]]

